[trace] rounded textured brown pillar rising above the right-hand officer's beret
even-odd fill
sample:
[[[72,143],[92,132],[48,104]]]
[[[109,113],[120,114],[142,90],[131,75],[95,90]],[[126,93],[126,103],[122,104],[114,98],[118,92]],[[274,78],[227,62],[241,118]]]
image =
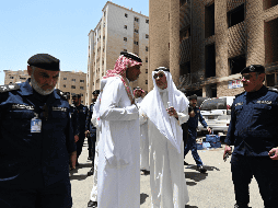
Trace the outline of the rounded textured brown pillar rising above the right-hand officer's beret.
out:
[[[262,0],[246,0],[247,57],[246,66],[265,65],[264,21]]]

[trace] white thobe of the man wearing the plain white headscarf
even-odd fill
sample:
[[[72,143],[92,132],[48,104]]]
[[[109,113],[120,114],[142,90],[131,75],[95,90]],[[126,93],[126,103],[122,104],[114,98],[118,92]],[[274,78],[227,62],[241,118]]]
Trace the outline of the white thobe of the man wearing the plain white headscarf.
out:
[[[161,97],[167,107],[167,92]],[[155,107],[155,106],[153,106]],[[143,114],[143,113],[142,113]],[[177,112],[177,125],[188,119],[188,109]],[[157,126],[147,117],[150,138],[150,184],[152,208],[184,208],[189,201],[188,190],[184,175],[184,142],[181,143],[181,153],[171,141],[162,135]]]

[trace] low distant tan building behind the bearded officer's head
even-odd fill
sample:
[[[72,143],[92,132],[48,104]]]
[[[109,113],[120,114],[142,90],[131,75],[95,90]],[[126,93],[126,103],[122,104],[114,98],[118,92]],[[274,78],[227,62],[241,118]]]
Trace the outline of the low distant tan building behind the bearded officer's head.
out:
[[[4,84],[25,82],[30,78],[27,70],[4,70]],[[70,92],[71,95],[81,94],[81,103],[85,104],[86,73],[82,71],[60,71],[56,88],[62,92]]]

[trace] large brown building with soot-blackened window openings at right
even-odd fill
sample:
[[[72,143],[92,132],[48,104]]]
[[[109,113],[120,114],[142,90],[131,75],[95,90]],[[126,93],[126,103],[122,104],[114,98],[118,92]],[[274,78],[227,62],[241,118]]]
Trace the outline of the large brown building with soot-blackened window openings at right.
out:
[[[241,93],[250,65],[265,66],[265,84],[278,85],[277,0],[150,0],[149,11],[150,68],[170,67],[187,95]]]

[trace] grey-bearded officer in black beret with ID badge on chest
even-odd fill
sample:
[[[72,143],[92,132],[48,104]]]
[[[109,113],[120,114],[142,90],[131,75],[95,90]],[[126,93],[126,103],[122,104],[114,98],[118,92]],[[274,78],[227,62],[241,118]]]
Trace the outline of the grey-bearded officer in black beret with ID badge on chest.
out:
[[[31,79],[0,86],[0,207],[69,208],[77,152],[69,104],[55,90],[59,59],[37,54],[27,63]]]

